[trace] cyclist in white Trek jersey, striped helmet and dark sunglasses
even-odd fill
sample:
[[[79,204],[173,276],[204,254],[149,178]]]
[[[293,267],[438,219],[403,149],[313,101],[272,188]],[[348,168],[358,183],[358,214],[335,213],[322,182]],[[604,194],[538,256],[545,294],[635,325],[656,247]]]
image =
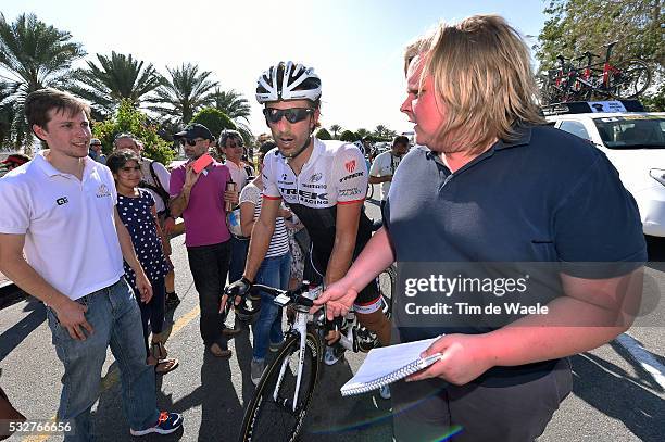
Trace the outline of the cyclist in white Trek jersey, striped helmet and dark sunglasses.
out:
[[[313,136],[321,113],[321,79],[313,68],[290,61],[271,66],[259,77],[256,100],[265,105],[263,114],[277,149],[265,155],[263,203],[244,274],[226,293],[241,295],[249,290],[271,242],[281,200],[312,240],[305,279],[335,282],[372,236],[372,222],[362,211],[367,188],[365,159],[353,144],[323,142]],[[390,323],[375,283],[361,291],[354,308],[360,323],[388,345]],[[327,336],[328,342],[336,340],[335,334]],[[331,365],[337,358],[328,353],[326,363]]]

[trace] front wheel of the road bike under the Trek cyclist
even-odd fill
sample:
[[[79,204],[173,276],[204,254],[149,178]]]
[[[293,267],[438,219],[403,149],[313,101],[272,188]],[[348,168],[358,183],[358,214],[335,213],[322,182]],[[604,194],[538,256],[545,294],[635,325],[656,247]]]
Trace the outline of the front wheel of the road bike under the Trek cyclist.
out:
[[[318,377],[321,343],[308,333],[305,350],[300,352],[300,336],[289,337],[266,368],[244,412],[240,441],[294,441],[302,429],[305,413]],[[296,387],[302,363],[298,396]]]

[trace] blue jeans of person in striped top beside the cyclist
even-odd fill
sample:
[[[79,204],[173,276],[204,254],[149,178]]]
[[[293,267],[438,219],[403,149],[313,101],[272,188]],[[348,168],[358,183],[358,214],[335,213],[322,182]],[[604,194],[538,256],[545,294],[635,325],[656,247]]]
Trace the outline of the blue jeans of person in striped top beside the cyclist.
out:
[[[263,260],[263,263],[261,263],[261,267],[256,274],[256,282],[277,287],[278,289],[288,289],[290,270],[290,253],[285,253],[281,256],[266,257]],[[281,307],[273,302],[274,299],[274,296],[261,292],[261,311],[259,313],[259,319],[253,326],[254,351],[252,356],[256,361],[265,359],[268,339],[272,343],[279,343],[284,340],[284,333],[281,331]]]

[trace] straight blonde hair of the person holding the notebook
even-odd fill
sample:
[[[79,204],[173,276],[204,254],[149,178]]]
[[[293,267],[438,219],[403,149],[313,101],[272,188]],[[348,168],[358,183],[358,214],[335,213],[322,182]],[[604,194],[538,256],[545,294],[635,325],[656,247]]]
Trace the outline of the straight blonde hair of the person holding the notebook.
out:
[[[516,126],[544,123],[529,50],[498,15],[474,15],[457,25],[440,24],[411,43],[404,68],[419,55],[421,86],[427,75],[446,104],[437,139],[482,151],[495,138],[515,140]]]

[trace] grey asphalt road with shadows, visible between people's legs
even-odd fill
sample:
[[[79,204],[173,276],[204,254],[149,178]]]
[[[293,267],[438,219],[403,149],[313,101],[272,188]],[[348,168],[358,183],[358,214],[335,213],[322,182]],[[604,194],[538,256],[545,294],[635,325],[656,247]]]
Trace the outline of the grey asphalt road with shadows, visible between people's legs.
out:
[[[366,205],[368,214],[378,217],[376,204],[368,202]],[[171,318],[167,343],[170,354],[180,359],[180,366],[158,378],[158,402],[163,409],[183,413],[185,429],[172,435],[149,435],[143,440],[235,441],[243,404],[253,391],[249,379],[250,336],[243,331],[229,341],[234,351],[230,359],[216,359],[203,351],[197,293],[183,241],[183,237],[173,240],[176,285],[183,303]],[[656,264],[647,270],[655,292],[665,292],[664,268]],[[564,401],[539,441],[663,440],[665,312],[663,303],[657,301],[649,308],[653,312],[638,321],[641,327],[629,331],[641,345],[637,345],[642,350],[638,352],[641,359],[632,355],[635,349],[632,353],[627,350],[626,339],[572,358],[574,392]],[[43,306],[32,299],[0,312],[0,386],[30,419],[54,417],[63,375],[45,319]],[[350,399],[339,394],[339,387],[352,376],[362,359],[362,354],[348,353],[346,361],[324,368],[302,440],[390,440],[389,401],[381,400],[378,394]],[[130,440],[120,401],[118,371],[110,352],[102,377],[100,399],[93,407],[95,433],[100,441]],[[43,441],[47,438],[13,435],[10,440]]]

